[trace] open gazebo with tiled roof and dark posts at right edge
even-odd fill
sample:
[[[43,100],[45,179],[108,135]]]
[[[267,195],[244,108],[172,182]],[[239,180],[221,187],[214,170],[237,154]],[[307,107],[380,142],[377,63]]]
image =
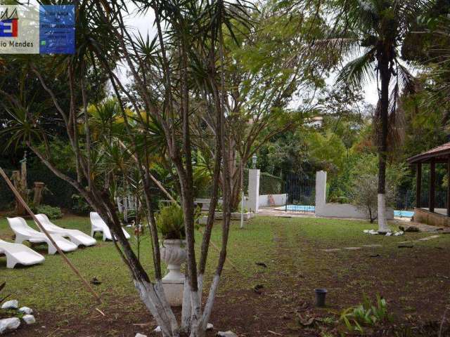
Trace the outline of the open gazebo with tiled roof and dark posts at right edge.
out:
[[[422,164],[430,164],[430,196],[428,198],[428,211],[435,212],[435,185],[436,185],[436,164],[447,164],[447,174],[450,182],[450,142],[439,145],[434,149],[417,154],[408,159],[409,164],[415,164],[417,167],[416,183],[416,208],[420,209],[420,193],[422,192]],[[446,215],[450,216],[450,183],[447,187],[447,210]]]

